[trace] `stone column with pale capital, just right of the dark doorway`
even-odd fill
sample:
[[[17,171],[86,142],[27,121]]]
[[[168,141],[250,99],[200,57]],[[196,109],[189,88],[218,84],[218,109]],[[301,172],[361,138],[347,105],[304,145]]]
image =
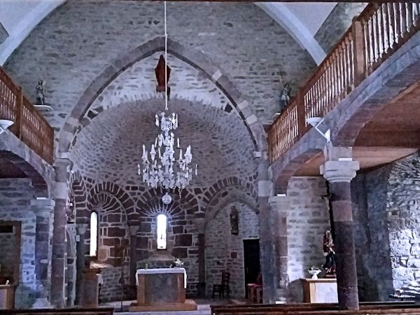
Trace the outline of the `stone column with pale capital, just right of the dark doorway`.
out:
[[[286,195],[276,195],[269,197],[268,201],[275,227],[276,300],[286,302],[288,295],[287,211],[289,200]]]

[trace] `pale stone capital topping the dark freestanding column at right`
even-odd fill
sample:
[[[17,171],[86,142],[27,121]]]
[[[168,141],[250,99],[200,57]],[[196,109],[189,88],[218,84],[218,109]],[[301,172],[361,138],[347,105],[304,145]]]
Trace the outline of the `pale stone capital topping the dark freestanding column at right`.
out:
[[[326,161],[319,167],[321,174],[331,183],[350,183],[359,169],[358,161]]]

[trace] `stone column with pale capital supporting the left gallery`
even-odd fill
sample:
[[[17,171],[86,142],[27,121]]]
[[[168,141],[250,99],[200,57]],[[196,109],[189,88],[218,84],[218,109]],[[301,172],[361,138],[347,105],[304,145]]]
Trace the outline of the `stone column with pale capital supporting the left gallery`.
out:
[[[51,223],[55,201],[51,199],[31,200],[31,210],[36,214],[35,273],[36,302],[34,307],[50,307],[49,292],[51,279]]]

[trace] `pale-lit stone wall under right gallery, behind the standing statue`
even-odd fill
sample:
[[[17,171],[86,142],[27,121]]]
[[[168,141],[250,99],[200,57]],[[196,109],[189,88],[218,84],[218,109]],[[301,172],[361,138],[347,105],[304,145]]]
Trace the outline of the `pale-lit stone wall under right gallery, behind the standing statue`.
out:
[[[330,216],[325,179],[322,177],[292,177],[287,196],[288,276],[290,302],[302,302],[300,279],[309,276],[307,269],[322,269],[323,234],[330,228]]]

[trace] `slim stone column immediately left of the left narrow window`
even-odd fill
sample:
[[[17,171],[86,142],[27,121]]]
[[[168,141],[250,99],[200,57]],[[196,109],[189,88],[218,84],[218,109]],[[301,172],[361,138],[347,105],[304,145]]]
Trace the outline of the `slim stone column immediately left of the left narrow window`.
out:
[[[83,270],[85,269],[85,233],[87,223],[76,224],[76,297],[74,304],[82,304]]]

